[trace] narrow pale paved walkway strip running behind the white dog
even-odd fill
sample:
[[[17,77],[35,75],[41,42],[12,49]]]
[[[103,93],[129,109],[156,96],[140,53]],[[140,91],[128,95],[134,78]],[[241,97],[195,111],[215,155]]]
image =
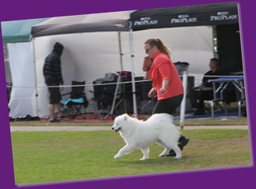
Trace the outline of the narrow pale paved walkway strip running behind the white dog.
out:
[[[12,126],[11,132],[60,132],[60,131],[111,131],[111,126]],[[247,125],[184,126],[184,130],[201,128],[239,128]]]

